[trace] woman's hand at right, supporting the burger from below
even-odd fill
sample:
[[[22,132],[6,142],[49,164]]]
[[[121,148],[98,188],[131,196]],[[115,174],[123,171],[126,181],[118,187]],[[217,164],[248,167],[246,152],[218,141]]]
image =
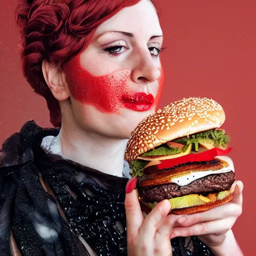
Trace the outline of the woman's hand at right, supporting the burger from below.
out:
[[[179,217],[170,238],[196,235],[216,255],[243,255],[231,231],[242,212],[242,188],[242,182],[236,181],[231,201],[204,212]]]

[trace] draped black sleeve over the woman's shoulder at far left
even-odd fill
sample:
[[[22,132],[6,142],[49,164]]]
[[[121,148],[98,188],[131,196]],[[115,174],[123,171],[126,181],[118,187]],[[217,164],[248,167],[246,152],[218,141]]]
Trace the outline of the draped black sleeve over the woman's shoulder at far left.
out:
[[[30,124],[0,150],[0,255],[17,247],[22,256],[88,256],[41,185],[31,146],[41,129]]]

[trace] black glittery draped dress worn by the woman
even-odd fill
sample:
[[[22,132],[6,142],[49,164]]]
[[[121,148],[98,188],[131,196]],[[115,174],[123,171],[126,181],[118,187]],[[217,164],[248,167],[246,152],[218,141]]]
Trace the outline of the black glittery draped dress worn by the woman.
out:
[[[46,153],[42,138],[58,132],[29,121],[2,145],[0,255],[87,256],[82,240],[97,255],[126,255],[127,178]],[[213,255],[196,237],[171,244],[173,256]]]

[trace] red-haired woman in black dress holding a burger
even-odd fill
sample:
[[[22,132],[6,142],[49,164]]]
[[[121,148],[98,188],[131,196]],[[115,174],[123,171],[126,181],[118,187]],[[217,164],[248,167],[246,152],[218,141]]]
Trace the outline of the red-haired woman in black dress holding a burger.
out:
[[[24,75],[56,128],[29,121],[2,145],[1,255],[242,255],[241,183],[221,208],[167,216],[162,201],[145,218],[127,183],[127,139],[164,77],[152,2],[23,0],[17,21]]]

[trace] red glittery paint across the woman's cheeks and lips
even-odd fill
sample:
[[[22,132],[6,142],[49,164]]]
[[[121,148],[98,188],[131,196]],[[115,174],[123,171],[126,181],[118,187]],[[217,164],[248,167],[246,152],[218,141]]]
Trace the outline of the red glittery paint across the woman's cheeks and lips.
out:
[[[107,75],[94,76],[81,67],[80,55],[78,54],[64,65],[64,71],[70,93],[74,99],[83,104],[92,105],[103,113],[118,114],[121,107],[135,111],[146,111],[152,107],[154,102],[158,103],[159,100],[159,90],[156,100],[149,102],[145,99],[153,99],[153,95],[135,92],[129,88],[127,82],[130,76],[129,69],[118,69]],[[159,78],[159,89],[161,89],[162,78]],[[128,97],[136,99],[136,102],[125,102],[124,99],[127,100]]]

